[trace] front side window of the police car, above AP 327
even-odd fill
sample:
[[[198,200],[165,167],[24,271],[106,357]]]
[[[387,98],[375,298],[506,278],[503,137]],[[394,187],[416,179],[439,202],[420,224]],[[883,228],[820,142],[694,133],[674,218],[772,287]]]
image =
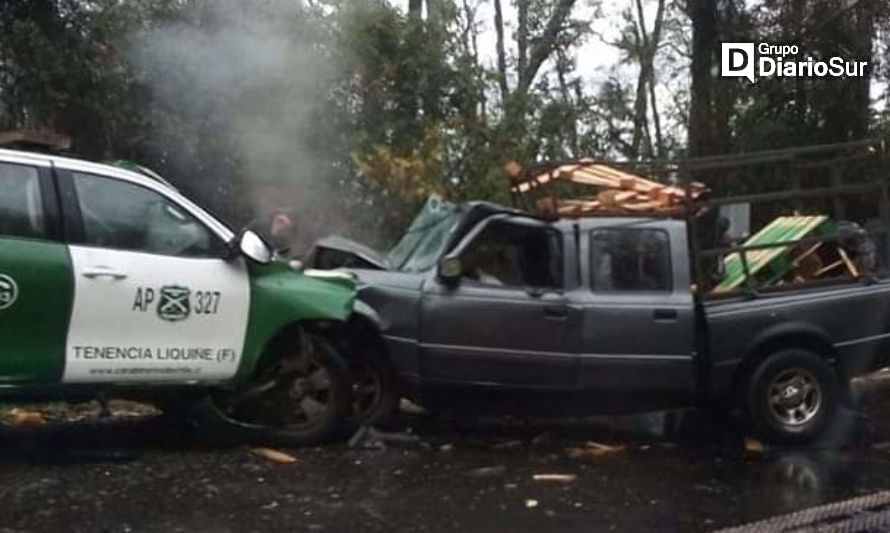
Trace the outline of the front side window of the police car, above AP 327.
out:
[[[84,244],[160,255],[220,257],[223,245],[181,207],[149,189],[74,174]]]

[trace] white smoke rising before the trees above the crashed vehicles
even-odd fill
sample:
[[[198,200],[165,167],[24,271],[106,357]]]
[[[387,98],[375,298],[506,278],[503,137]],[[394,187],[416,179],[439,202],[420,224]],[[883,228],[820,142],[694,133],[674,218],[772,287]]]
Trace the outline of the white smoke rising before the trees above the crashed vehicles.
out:
[[[324,29],[297,1],[208,1],[196,3],[192,15],[151,27],[133,44],[152,99],[175,110],[189,131],[202,121],[222,125],[218,134],[234,153],[216,157],[238,159],[250,191],[238,200],[254,213],[295,208],[303,214],[297,223],[304,245],[343,230],[336,184],[322,179],[349,171],[332,168],[344,154],[326,153],[330,147],[319,135],[333,128],[324,124],[324,110],[340,74]],[[174,131],[179,126],[166,123],[151,133],[163,146],[181,135]]]

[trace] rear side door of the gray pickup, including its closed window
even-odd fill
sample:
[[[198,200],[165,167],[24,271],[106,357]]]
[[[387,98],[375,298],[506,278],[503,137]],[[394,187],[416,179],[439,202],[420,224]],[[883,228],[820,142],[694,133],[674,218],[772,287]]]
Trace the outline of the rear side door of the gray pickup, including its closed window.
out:
[[[685,226],[597,221],[581,231],[579,385],[686,396],[695,390],[695,306]]]

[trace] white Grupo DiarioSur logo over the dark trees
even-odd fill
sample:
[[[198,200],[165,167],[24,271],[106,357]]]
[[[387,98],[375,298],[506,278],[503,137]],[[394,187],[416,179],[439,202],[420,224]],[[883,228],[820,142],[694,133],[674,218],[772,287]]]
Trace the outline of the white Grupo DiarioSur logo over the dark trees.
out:
[[[755,53],[756,52],[756,53]],[[720,75],[748,78],[859,78],[868,61],[840,56],[816,58],[802,55],[796,44],[722,43]]]

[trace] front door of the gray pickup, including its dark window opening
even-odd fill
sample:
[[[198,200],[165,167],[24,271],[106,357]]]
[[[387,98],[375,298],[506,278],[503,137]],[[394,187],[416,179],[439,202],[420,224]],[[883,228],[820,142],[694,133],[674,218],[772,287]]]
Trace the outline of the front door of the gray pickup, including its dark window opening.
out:
[[[421,304],[427,382],[543,389],[575,381],[580,313],[562,295],[564,236],[522,217],[489,219],[456,253],[457,283],[431,277]]]

